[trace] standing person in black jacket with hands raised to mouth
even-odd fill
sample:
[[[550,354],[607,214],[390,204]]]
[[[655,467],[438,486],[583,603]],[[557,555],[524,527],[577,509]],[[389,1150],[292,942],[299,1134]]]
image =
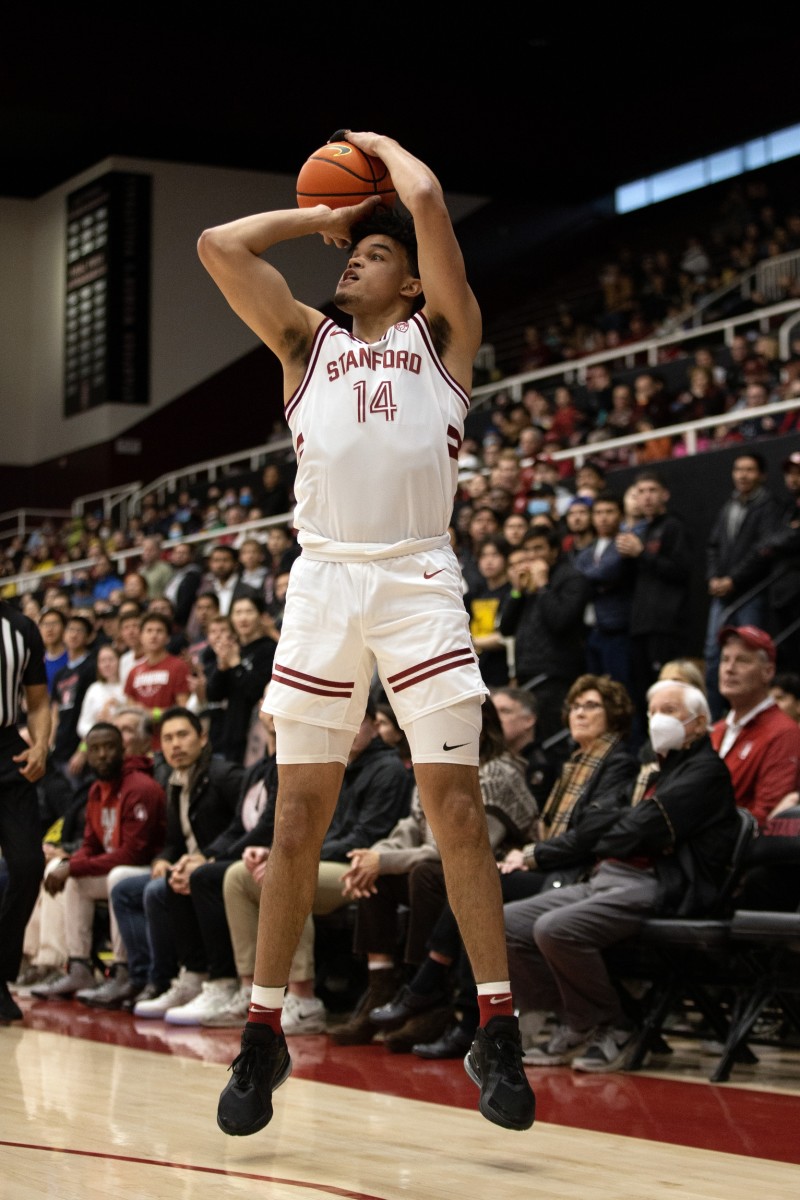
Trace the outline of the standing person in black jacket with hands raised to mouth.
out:
[[[540,736],[561,728],[560,709],[570,684],[585,665],[583,613],[589,583],[564,557],[559,535],[531,530],[527,553],[512,556],[511,595],[500,613],[500,632],[515,638],[515,676],[536,685]]]

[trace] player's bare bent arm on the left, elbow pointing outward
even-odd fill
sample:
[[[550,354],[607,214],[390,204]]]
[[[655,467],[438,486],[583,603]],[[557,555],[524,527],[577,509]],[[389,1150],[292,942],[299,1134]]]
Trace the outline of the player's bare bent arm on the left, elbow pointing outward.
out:
[[[225,300],[246,325],[279,359],[290,392],[302,374],[323,313],[296,300],[289,284],[261,256],[278,242],[320,234],[326,244],[350,244],[350,227],[363,217],[374,197],[347,209],[318,204],[278,209],[205,229],[198,254]]]

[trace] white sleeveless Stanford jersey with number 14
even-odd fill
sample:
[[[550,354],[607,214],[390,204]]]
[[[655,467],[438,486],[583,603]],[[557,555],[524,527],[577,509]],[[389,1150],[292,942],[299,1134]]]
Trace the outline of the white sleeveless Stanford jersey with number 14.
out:
[[[285,408],[303,553],[360,560],[447,544],[468,410],[421,313],[372,343],[324,320]]]

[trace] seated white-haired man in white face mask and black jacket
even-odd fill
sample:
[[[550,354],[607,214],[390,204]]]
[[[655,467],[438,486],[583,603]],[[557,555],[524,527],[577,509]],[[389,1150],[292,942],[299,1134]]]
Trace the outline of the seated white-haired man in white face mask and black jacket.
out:
[[[730,774],[708,736],[705,696],[660,680],[648,691],[657,764],[642,768],[631,804],[593,802],[583,823],[595,866],[581,883],[505,905],[511,988],[521,1014],[553,1012],[559,1025],[528,1051],[539,1066],[622,1069],[632,1031],[603,950],[654,914],[708,911],[724,876],[738,820]]]

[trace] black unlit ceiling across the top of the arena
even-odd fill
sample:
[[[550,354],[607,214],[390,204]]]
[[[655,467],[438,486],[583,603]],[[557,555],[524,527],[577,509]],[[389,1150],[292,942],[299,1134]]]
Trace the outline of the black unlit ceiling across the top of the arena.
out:
[[[349,126],[396,136],[445,190],[581,204],[800,121],[800,37],[754,13],[620,32],[608,10],[567,35],[534,32],[519,7],[493,7],[494,28],[486,10],[365,11],[297,7],[290,28],[269,5],[7,17],[0,196],[35,198],[114,155],[294,174]]]

